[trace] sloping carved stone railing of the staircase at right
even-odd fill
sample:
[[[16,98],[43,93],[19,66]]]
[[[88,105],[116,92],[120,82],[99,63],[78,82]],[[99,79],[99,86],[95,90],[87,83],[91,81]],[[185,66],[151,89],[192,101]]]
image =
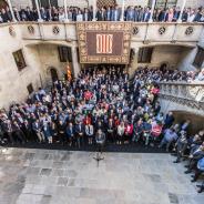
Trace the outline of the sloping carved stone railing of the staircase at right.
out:
[[[160,99],[175,102],[196,111],[204,110],[204,83],[202,82],[161,82],[160,89]]]

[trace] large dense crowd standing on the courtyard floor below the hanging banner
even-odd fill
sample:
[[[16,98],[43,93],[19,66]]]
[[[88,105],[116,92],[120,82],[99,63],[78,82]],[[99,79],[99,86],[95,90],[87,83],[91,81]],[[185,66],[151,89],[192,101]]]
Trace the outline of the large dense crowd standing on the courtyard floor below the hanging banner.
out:
[[[0,111],[1,144],[165,146],[175,151],[175,163],[187,155],[185,173],[194,170],[194,182],[204,172],[204,131],[190,135],[190,120],[178,124],[172,112],[161,112],[157,73],[141,68],[130,80],[123,67],[95,67],[55,81],[50,91],[40,88],[27,102]]]

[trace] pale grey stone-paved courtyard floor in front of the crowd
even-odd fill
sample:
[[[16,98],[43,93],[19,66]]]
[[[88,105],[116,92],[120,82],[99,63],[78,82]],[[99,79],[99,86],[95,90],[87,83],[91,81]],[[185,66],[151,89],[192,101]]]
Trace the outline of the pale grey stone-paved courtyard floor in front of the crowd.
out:
[[[203,204],[169,154],[9,149],[0,153],[0,204]]]

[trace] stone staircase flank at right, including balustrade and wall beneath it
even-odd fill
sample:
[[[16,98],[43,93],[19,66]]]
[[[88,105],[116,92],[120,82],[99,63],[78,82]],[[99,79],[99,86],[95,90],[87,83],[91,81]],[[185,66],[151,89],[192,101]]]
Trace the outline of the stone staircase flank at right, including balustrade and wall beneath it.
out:
[[[163,110],[204,114],[204,83],[161,82],[160,89]]]

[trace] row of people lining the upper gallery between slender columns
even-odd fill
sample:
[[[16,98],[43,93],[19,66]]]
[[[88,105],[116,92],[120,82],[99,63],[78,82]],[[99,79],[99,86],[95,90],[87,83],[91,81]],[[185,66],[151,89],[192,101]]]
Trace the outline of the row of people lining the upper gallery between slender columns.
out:
[[[65,12],[63,7],[40,8],[41,19],[44,21],[135,21],[147,22],[151,18],[151,8],[141,6],[130,6],[124,10],[124,17],[122,17],[122,9],[115,7],[98,8],[95,17],[93,14],[93,7],[78,8],[68,7],[68,19],[65,19]],[[17,21],[38,21],[39,14],[35,8],[27,7],[26,9],[18,10],[13,7],[13,13]],[[155,22],[176,22],[180,18],[181,9],[178,7],[173,8],[157,8],[153,12],[153,21]],[[204,8],[192,9],[186,8],[182,13],[183,22],[204,22]],[[0,22],[11,22],[11,11],[7,7],[0,10]]]

